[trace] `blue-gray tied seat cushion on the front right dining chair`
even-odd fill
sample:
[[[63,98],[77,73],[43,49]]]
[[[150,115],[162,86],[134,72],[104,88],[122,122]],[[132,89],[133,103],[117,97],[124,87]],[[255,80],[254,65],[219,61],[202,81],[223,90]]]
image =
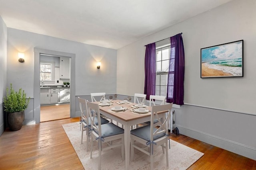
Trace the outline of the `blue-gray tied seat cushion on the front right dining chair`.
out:
[[[157,128],[154,127],[154,132],[157,130]],[[144,139],[146,141],[150,141],[150,125],[146,125],[146,126],[143,126],[143,127],[139,127],[137,129],[134,129],[131,131],[131,134],[136,136],[136,137],[139,137],[141,139]],[[160,137],[163,137],[165,136],[165,133],[161,133],[161,134],[158,134],[158,135],[154,135],[154,138],[153,140],[156,140]]]

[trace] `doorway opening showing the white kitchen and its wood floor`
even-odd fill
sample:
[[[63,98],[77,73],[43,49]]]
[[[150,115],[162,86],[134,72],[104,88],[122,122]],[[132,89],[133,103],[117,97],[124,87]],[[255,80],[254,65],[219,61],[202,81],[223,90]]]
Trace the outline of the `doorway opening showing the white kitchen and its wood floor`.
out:
[[[67,83],[70,57],[40,53],[40,122],[70,118]]]

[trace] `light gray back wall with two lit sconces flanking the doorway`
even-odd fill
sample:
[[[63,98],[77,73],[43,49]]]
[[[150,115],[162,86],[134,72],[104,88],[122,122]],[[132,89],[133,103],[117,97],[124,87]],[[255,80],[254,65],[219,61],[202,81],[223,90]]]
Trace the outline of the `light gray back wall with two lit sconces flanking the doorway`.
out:
[[[46,49],[54,54],[75,55],[74,59],[71,60],[71,63],[74,60],[71,75],[72,72],[75,73],[75,82],[70,85],[71,90],[74,88],[71,91],[74,96],[90,95],[92,92],[116,93],[116,50],[114,49],[12,28],[8,28],[7,40],[7,84],[12,83],[14,89],[24,89],[27,96],[32,98],[29,108],[25,111],[25,124],[39,123],[40,91],[38,89],[40,79],[34,78],[37,74],[39,75],[39,56],[34,55],[34,48]],[[25,53],[24,63],[18,62],[18,52]],[[100,69],[96,68],[98,61],[102,63]],[[38,66],[34,63],[38,63]],[[75,106],[72,107],[75,108]],[[75,117],[75,112],[74,110],[70,113],[71,117]]]

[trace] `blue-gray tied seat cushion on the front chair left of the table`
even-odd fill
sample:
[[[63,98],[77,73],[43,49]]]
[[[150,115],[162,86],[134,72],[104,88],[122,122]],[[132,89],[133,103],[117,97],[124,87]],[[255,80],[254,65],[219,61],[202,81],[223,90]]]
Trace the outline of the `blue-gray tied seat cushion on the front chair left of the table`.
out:
[[[98,134],[98,131],[95,132]],[[101,135],[103,138],[122,133],[124,133],[124,129],[118,127],[117,125],[114,125],[114,123],[106,123],[104,125],[101,125]]]

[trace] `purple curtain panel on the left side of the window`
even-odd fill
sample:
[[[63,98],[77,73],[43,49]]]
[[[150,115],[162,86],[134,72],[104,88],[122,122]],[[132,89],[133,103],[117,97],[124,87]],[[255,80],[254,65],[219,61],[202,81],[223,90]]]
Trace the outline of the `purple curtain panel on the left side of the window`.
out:
[[[156,91],[156,43],[146,45],[145,53],[145,85],[146,100]]]

